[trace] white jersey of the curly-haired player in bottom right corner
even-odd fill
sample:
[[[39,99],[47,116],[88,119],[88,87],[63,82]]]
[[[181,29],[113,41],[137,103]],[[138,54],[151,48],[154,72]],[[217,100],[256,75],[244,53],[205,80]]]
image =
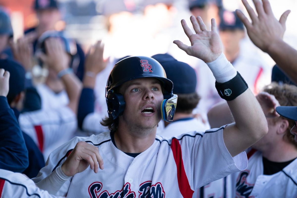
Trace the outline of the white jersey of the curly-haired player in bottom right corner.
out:
[[[260,151],[251,150],[248,153],[249,165],[246,170],[234,178],[236,198],[297,197],[297,159],[287,165],[282,171],[273,175],[263,175],[263,156]]]

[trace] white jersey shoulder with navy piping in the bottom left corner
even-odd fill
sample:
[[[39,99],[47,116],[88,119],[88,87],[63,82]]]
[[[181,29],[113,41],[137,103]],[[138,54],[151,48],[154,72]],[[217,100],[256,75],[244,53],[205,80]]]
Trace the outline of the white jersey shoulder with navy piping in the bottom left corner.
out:
[[[39,189],[26,175],[0,169],[0,198],[8,197],[55,198],[56,196]]]

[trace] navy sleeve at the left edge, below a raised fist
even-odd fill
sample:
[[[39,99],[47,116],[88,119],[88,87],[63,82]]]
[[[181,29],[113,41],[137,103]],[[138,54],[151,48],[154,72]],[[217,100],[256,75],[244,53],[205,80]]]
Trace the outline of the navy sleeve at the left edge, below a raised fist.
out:
[[[7,98],[0,96],[0,168],[23,172],[29,165],[23,134]]]

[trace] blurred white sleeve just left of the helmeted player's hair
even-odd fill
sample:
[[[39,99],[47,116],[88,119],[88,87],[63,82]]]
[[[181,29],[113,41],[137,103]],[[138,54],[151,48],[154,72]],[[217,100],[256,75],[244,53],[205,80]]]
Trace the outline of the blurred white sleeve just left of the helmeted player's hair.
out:
[[[105,118],[105,114],[101,113],[89,113],[85,119],[83,119],[83,131],[91,132],[91,134],[99,134],[108,131],[108,128],[102,126],[100,121]]]

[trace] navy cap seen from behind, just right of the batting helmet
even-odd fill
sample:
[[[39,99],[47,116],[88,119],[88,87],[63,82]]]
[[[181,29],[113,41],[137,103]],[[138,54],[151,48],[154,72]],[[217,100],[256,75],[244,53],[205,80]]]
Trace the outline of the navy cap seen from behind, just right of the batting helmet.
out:
[[[173,94],[191,94],[196,91],[197,77],[191,66],[167,53],[156,54],[152,58],[163,66],[167,78],[173,82]]]

